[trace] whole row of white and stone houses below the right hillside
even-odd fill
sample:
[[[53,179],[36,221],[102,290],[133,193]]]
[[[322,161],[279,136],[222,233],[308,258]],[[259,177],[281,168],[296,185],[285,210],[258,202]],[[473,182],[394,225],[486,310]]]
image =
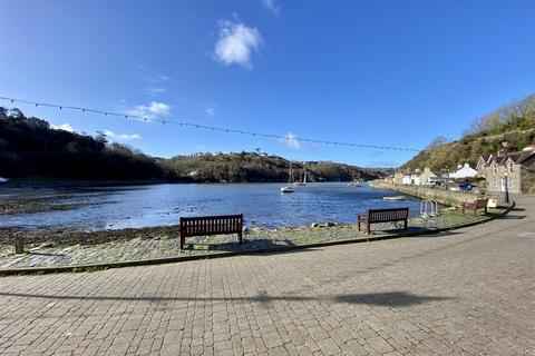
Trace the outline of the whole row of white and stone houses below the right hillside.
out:
[[[522,151],[502,151],[480,156],[476,169],[468,164],[459,165],[455,171],[434,172],[429,168],[414,171],[396,171],[390,178],[393,184],[439,186],[451,181],[478,181],[478,186],[493,194],[535,194],[535,145]]]

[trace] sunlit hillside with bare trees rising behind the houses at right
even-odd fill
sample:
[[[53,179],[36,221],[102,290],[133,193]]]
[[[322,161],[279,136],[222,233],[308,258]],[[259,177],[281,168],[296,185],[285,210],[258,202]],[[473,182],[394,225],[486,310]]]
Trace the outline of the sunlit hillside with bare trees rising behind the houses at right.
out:
[[[401,168],[451,169],[464,162],[475,166],[480,155],[500,150],[503,141],[512,150],[535,144],[535,95],[475,120],[459,140],[436,139]]]

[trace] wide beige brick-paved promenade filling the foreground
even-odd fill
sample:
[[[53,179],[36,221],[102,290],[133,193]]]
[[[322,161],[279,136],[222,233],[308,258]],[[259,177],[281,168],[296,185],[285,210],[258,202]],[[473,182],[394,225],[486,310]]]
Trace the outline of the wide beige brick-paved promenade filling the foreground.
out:
[[[535,355],[535,198],[435,236],[0,278],[0,355]]]

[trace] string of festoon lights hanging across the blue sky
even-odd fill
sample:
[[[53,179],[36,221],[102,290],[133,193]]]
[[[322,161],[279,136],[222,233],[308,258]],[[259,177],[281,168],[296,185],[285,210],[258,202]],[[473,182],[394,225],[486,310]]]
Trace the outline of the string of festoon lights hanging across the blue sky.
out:
[[[42,101],[31,101],[31,100],[22,100],[9,97],[1,97],[0,100],[9,101],[11,103],[26,103],[31,105],[35,107],[46,107],[46,108],[54,108],[58,110],[76,110],[87,113],[97,113],[101,116],[111,116],[111,117],[120,117],[123,119],[133,119],[133,120],[142,120],[146,122],[159,122],[163,125],[177,125],[179,127],[187,127],[194,128],[200,130],[207,130],[207,131],[218,131],[224,134],[239,134],[245,135],[251,137],[262,137],[262,138],[273,138],[278,140],[286,140],[286,141],[299,141],[299,142],[307,142],[307,144],[317,144],[317,145],[331,145],[331,146],[342,146],[342,147],[356,147],[356,148],[369,148],[369,149],[380,149],[380,150],[397,150],[397,151],[420,151],[417,148],[407,148],[407,147],[395,147],[395,146],[377,146],[377,145],[364,145],[364,144],[350,144],[350,142],[339,142],[339,141],[330,141],[330,140],[318,140],[318,139],[309,139],[302,137],[289,137],[283,135],[271,135],[271,134],[262,134],[262,132],[252,132],[246,130],[237,130],[233,128],[224,128],[224,127],[214,127],[214,126],[206,126],[206,125],[198,125],[186,121],[178,121],[172,119],[163,119],[158,117],[150,117],[150,116],[142,116],[142,115],[132,115],[132,113],[120,113],[107,110],[97,110],[90,109],[86,107],[75,107],[68,105],[57,105],[57,103],[49,103]]]

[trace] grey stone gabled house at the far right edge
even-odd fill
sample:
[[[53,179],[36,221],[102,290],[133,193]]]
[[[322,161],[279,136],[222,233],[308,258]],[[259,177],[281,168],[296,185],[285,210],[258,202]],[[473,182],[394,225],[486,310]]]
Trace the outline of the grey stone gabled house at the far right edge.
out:
[[[478,176],[488,192],[535,194],[535,145],[522,151],[479,157]]]

